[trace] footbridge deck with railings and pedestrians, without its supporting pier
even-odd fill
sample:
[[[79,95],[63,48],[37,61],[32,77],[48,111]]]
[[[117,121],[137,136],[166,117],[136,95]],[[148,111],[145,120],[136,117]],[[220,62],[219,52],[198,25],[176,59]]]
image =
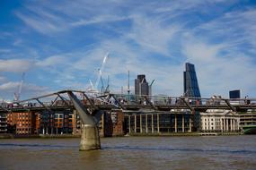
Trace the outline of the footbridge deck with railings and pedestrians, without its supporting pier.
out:
[[[13,103],[2,103],[0,113],[73,109],[75,106],[67,95],[68,92],[73,92],[84,107],[91,111],[122,109],[123,112],[127,113],[143,111],[170,112],[177,110],[206,112],[207,109],[228,109],[237,112],[246,112],[248,109],[256,109],[255,98],[230,99],[136,96],[111,93],[89,93],[81,90],[62,90],[36,98],[15,101]]]

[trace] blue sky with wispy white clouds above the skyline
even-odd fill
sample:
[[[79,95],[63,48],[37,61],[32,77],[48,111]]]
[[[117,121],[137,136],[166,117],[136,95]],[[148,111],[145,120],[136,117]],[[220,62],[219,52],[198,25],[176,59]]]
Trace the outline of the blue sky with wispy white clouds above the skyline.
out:
[[[256,1],[0,0],[0,99],[95,84],[134,93],[137,74],[153,95],[181,96],[185,63],[201,96],[241,89],[256,97]],[[101,89],[99,83],[98,89]],[[122,88],[121,88],[122,87]]]

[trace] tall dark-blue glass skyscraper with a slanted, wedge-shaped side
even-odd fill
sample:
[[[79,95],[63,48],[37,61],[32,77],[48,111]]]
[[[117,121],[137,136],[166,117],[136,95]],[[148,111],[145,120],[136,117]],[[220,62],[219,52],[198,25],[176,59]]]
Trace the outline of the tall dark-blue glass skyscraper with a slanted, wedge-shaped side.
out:
[[[186,63],[186,71],[183,72],[184,78],[184,96],[201,98],[199,83],[195,70],[195,65]]]

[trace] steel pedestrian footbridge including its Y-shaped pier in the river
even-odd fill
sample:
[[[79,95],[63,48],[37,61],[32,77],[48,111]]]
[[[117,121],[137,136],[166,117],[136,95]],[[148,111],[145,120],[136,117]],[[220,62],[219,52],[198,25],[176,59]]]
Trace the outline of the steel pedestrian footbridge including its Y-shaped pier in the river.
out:
[[[2,103],[0,114],[13,112],[40,112],[75,109],[82,122],[80,150],[101,149],[98,123],[104,111],[120,109],[126,114],[137,112],[175,112],[190,110],[206,112],[207,109],[227,109],[246,112],[256,109],[256,98],[189,98],[166,96],[136,96],[101,94],[82,90],[62,90],[48,95],[12,103]]]

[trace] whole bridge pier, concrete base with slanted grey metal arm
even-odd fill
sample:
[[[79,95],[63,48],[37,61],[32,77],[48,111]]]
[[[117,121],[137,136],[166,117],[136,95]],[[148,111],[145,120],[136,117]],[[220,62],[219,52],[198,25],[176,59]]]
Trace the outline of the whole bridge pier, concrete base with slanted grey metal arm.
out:
[[[80,150],[101,149],[101,140],[96,117],[90,114],[72,91],[67,91],[67,94],[83,123],[81,127]]]

